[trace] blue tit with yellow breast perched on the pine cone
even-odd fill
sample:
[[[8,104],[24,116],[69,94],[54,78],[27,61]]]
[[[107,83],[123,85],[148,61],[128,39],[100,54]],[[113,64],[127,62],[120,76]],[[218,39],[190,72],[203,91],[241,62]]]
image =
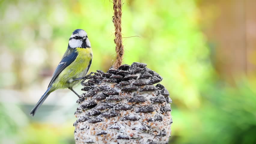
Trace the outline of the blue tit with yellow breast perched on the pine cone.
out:
[[[86,76],[92,58],[93,52],[87,33],[82,29],[76,29],[69,38],[68,49],[56,67],[46,92],[31,110],[30,115],[34,116],[45,99],[56,89],[69,88],[79,97],[73,90],[73,86]]]

